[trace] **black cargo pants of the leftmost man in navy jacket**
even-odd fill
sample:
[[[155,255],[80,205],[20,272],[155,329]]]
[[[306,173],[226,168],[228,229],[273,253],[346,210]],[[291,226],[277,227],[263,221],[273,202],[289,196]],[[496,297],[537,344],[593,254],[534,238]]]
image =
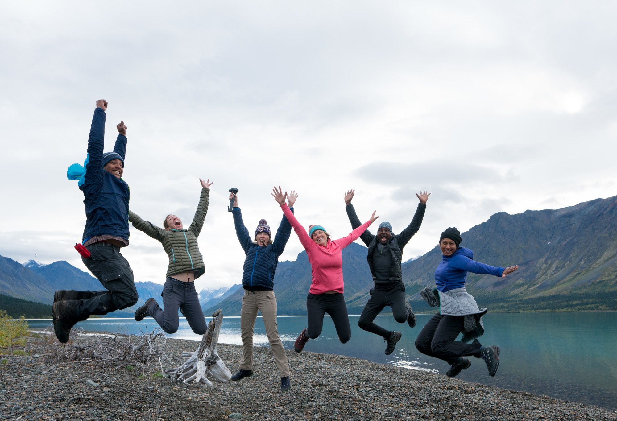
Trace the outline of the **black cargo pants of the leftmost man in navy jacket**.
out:
[[[85,320],[91,314],[107,314],[134,306],[139,296],[133,282],[133,270],[120,254],[120,248],[104,241],[86,248],[91,256],[89,259],[81,257],[81,261],[106,290],[93,292],[91,298],[77,300],[79,303],[72,315]]]

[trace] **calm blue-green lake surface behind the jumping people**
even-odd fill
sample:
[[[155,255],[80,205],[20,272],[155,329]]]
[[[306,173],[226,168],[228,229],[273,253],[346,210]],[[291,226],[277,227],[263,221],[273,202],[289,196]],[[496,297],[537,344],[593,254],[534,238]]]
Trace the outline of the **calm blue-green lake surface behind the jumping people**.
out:
[[[304,349],[445,375],[449,365],[424,356],[415,348],[416,336],[432,315],[418,315],[418,325],[413,329],[407,323],[395,322],[392,315],[379,315],[375,323],[403,333],[389,356],[384,354],[383,338],[358,328],[358,317],[349,317],[352,338],[348,343],[339,342],[334,324],[326,316],[323,333],[310,340]],[[500,346],[499,371],[495,377],[489,377],[484,361],[471,357],[470,369],[460,373],[458,378],[617,409],[617,312],[497,313],[487,314],[483,320],[486,333],[479,340],[482,344]],[[30,327],[43,328],[49,326],[50,321],[29,320],[28,323]],[[278,317],[278,330],[286,349],[293,349],[297,335],[306,325],[306,316]],[[79,322],[77,327],[138,334],[158,325],[149,317],[141,322],[102,318]],[[201,340],[183,318],[178,332],[168,336]],[[219,342],[242,344],[239,317],[223,319]],[[255,346],[268,346],[261,317],[255,323],[254,343]],[[238,367],[229,368],[234,372]]]

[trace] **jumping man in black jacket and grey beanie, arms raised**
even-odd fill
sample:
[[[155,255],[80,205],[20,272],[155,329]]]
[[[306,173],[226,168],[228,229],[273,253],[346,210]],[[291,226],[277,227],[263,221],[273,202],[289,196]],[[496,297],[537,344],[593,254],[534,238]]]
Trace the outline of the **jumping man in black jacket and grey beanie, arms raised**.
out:
[[[360,227],[362,223],[355,214],[354,205],[351,204],[354,193],[355,190],[347,191],[345,209],[351,226],[355,229]],[[407,320],[410,327],[416,325],[416,315],[413,314],[412,306],[405,300],[405,285],[403,285],[403,273],[400,264],[402,263],[403,248],[420,229],[426,209],[426,201],[430,195],[431,193],[426,191],[420,192],[420,194],[416,193],[416,196],[420,199],[418,209],[413,215],[412,222],[400,234],[394,235],[392,225],[389,222],[382,222],[379,224],[377,235],[366,230],[360,236],[360,239],[368,247],[366,260],[371,275],[373,275],[375,288],[370,291],[371,298],[368,299],[362,315],[360,315],[358,326],[363,330],[375,333],[375,335],[383,336],[384,340],[387,341],[386,355],[392,354],[402,333],[386,330],[373,323],[373,320],[384,307],[390,306],[394,320],[399,323],[404,323]]]

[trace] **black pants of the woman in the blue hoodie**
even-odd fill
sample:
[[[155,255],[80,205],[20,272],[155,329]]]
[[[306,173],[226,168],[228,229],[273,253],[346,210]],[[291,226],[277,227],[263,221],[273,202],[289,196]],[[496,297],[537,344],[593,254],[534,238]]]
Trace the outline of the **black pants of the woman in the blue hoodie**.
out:
[[[465,316],[449,316],[437,313],[416,339],[416,348],[431,357],[444,360],[448,364],[454,364],[458,357],[480,356],[480,343],[473,341],[467,344],[457,341],[456,338],[465,327]]]

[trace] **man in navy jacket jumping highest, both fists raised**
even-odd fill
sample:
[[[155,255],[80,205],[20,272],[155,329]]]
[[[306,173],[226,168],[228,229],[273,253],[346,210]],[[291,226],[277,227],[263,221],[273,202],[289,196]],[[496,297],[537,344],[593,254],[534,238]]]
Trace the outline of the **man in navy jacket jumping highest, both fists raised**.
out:
[[[91,314],[107,314],[136,304],[133,270],[120,254],[128,246],[128,185],[122,180],[126,151],[126,125],[120,122],[114,151],[103,153],[107,101],[96,101],[88,137],[88,159],[79,188],[84,194],[86,227],[83,245],[91,256],[81,257],[101,281],[102,291],[56,291],[54,331],[62,343],[68,341],[73,325]]]

